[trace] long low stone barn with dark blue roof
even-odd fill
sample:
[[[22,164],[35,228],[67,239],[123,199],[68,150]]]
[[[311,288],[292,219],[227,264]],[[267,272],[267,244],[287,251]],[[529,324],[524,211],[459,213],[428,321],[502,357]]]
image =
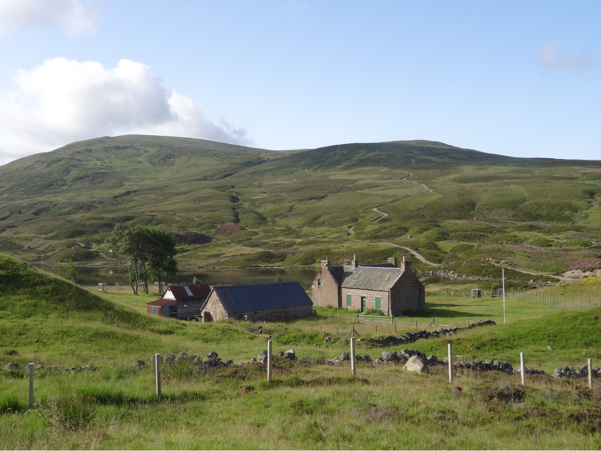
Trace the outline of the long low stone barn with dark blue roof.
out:
[[[203,322],[281,321],[312,313],[313,302],[297,281],[214,286],[202,308]]]

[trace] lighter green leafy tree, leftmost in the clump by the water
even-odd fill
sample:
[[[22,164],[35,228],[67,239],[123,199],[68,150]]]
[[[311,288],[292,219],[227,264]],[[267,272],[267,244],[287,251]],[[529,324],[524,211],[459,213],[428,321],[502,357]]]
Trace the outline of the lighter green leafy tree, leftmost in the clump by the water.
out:
[[[114,258],[126,269],[133,294],[138,295],[140,278],[147,274],[149,243],[145,228],[131,221],[116,224],[107,243]]]

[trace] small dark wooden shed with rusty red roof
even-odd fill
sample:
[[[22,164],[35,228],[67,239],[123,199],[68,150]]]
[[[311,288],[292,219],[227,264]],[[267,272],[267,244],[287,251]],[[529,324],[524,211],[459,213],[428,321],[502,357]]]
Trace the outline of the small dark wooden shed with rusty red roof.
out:
[[[165,290],[163,297],[147,302],[147,313],[165,318],[193,319],[201,314],[211,287],[209,284],[172,285]]]

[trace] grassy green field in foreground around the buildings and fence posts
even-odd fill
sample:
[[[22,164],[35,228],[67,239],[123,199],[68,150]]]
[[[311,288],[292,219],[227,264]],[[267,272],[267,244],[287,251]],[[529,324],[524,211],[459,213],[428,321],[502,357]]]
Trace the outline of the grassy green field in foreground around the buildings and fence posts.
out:
[[[450,384],[444,366],[415,374],[402,366],[373,364],[359,364],[353,378],[348,363],[294,365],[276,358],[269,384],[264,365],[248,364],[266,349],[265,339],[245,331],[256,324],[150,317],[145,302],[153,295],[98,296],[5,256],[0,256],[0,287],[2,449],[601,446],[599,381],[589,391],[582,379],[531,376],[523,388],[519,376],[460,370]],[[461,326],[492,318],[498,325],[394,348],[359,345],[359,354],[376,358],[385,349],[407,347],[442,359],[452,342],[458,360],[502,359],[517,366],[523,351],[528,366],[549,373],[560,364],[601,361],[601,308],[580,311],[508,298],[503,325],[498,298],[433,295],[427,305],[429,313],[412,321],[435,316],[437,323]],[[352,312],[318,311],[313,319],[264,324],[273,334],[273,351],[293,347],[301,358],[340,357],[348,345],[324,343],[323,333],[334,335],[338,328],[344,337],[353,325],[362,338],[388,333],[357,325]],[[398,328],[400,334],[404,324],[398,322]],[[6,354],[13,350],[19,355]],[[205,358],[210,351],[232,359],[234,367],[204,372],[189,360],[163,364],[161,400],[154,393],[153,369],[133,366],[136,358],[149,363],[156,352]],[[35,371],[35,405],[28,409],[26,373],[4,366],[31,361],[44,369]],[[238,362],[247,364],[236,367]],[[75,374],[52,369],[88,363],[100,369]]]

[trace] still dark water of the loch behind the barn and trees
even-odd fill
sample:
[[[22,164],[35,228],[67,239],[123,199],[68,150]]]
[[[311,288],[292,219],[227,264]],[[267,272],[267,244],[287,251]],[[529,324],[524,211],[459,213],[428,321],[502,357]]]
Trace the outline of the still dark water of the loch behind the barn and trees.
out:
[[[52,272],[65,277],[66,267],[57,267],[53,265],[40,266],[44,271]],[[318,269],[276,269],[276,268],[258,268],[258,269],[188,269],[183,268],[167,280],[174,284],[191,284],[194,276],[198,277],[203,283],[209,285],[236,285],[246,283],[267,283],[273,282],[276,277],[282,281],[298,280],[301,286],[308,290],[311,287],[313,279],[317,275]],[[80,285],[96,285],[99,282],[114,286],[115,283],[129,284],[126,279],[126,272],[119,266],[105,266],[93,268],[77,268],[78,278],[76,282]],[[150,281],[152,284],[153,281]]]

